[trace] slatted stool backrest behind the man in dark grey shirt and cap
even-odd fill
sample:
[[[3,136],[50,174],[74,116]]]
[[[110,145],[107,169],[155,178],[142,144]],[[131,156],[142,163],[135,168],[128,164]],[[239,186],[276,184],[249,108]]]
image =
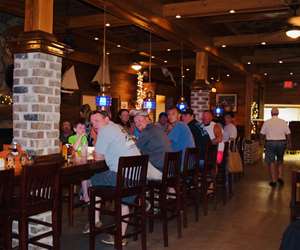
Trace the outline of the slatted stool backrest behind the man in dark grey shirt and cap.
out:
[[[162,184],[170,181],[180,180],[180,154],[181,152],[166,152],[164,160],[164,169],[162,176]]]

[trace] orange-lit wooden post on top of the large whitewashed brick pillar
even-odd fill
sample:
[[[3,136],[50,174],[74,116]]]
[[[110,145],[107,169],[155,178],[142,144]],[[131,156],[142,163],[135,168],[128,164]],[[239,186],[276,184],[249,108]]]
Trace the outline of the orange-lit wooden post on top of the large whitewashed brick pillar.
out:
[[[53,32],[53,0],[26,0],[24,31]]]

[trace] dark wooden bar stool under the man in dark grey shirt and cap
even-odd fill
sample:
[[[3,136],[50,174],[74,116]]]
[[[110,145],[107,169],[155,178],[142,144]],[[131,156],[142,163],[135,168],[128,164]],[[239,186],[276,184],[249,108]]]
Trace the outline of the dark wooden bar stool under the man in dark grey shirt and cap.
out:
[[[168,221],[177,219],[177,235],[182,236],[182,185],[180,176],[180,152],[165,154],[161,181],[150,181],[149,231],[153,232],[154,219],[162,221],[164,246],[168,246]],[[170,190],[173,189],[173,192]],[[154,212],[156,210],[156,213]]]

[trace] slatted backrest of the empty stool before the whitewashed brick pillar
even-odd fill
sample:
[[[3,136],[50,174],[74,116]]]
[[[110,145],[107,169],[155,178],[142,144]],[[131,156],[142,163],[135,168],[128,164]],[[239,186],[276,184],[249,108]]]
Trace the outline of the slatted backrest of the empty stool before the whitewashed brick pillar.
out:
[[[25,166],[21,174],[21,207],[49,210],[59,203],[60,164]],[[39,207],[40,206],[40,207]]]

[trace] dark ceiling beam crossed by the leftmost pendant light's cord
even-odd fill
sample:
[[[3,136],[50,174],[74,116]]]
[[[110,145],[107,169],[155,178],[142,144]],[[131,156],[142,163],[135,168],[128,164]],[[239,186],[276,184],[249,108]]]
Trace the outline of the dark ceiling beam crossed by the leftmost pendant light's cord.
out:
[[[106,23],[110,24],[110,27],[121,27],[130,25],[129,22],[121,20],[112,15],[106,16]],[[71,16],[68,19],[67,28],[68,29],[94,29],[103,28],[104,15],[94,14],[87,16]]]

